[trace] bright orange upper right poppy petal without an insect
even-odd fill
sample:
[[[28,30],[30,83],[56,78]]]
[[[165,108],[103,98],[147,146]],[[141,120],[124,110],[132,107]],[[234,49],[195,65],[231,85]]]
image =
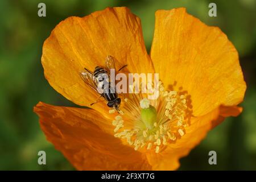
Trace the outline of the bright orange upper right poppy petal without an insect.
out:
[[[166,86],[191,94],[193,115],[220,105],[235,106],[246,84],[233,44],[218,27],[210,27],[184,8],[156,11],[151,59]]]

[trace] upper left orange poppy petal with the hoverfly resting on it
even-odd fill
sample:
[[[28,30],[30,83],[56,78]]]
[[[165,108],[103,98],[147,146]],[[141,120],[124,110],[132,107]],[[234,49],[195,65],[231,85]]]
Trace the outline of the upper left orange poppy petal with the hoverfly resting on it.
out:
[[[154,72],[140,19],[126,7],[107,8],[60,22],[43,45],[44,75],[68,100],[90,107],[99,95],[82,81],[80,72],[105,66],[108,55],[114,57],[116,69],[127,64],[125,69],[131,73]],[[105,114],[109,110],[105,102],[92,107]]]

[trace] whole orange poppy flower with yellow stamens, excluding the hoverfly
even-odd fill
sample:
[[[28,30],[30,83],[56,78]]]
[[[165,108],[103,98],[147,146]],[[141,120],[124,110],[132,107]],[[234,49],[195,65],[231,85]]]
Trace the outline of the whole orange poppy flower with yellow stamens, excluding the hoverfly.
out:
[[[238,53],[218,27],[184,8],[156,11],[150,55],[141,22],[126,7],[107,8],[60,22],[44,42],[49,84],[68,100],[91,109],[39,102],[34,111],[47,140],[79,170],[172,170],[225,117],[237,116],[246,84]],[[159,97],[122,97],[123,115],[82,81],[112,55],[129,73],[159,73]]]

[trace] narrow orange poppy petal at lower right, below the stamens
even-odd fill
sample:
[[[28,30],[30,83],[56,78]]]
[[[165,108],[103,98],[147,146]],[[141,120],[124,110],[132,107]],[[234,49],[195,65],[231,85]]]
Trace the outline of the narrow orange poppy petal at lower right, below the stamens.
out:
[[[147,159],[152,170],[175,170],[179,168],[179,159],[188,155],[192,148],[205,138],[214,123],[220,123],[224,120],[224,117],[218,116],[219,114],[219,109],[214,109],[204,116],[191,118],[191,125],[185,127],[185,135],[177,139],[176,142],[168,144],[167,148],[160,151],[159,154],[149,152]]]

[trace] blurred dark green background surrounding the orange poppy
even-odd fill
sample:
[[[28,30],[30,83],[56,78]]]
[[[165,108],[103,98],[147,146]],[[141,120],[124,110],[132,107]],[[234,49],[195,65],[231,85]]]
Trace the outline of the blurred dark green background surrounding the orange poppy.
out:
[[[38,3],[46,3],[46,17],[38,16]],[[208,16],[210,2],[217,17]],[[40,63],[42,45],[51,30],[68,16],[85,16],[107,6],[127,6],[142,20],[150,51],[154,13],[158,9],[187,7],[188,13],[208,25],[218,26],[233,42],[247,82],[243,113],[228,118],[181,159],[180,169],[256,169],[256,1],[125,1],[57,0],[0,1],[0,169],[74,169],[47,142],[33,106],[39,101],[75,106],[55,92],[44,78]],[[47,154],[47,165],[38,165],[38,151]],[[208,164],[208,152],[217,152],[217,165]]]

